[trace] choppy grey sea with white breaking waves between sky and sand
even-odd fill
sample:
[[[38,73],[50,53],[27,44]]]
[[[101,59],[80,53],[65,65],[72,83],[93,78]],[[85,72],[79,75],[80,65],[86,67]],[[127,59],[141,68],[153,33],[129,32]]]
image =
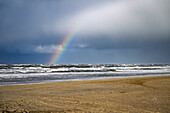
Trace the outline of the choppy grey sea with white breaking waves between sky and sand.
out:
[[[170,64],[0,64],[0,85],[170,75]]]

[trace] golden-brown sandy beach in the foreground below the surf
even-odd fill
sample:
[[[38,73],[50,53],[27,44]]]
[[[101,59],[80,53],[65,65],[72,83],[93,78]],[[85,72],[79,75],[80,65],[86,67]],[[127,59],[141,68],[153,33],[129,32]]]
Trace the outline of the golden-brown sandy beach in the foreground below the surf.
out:
[[[170,76],[0,86],[0,112],[170,111]]]

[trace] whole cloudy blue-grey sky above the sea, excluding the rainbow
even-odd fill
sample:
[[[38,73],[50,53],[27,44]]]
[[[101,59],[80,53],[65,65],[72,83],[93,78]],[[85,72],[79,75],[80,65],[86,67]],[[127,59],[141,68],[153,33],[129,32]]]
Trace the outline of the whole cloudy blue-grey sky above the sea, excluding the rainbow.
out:
[[[0,63],[170,63],[170,0],[0,0]]]

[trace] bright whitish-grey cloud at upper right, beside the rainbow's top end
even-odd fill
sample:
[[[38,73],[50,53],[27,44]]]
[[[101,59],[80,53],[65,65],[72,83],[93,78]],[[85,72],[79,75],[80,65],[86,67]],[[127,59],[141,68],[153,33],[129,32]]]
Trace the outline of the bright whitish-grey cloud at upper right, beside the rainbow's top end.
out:
[[[169,0],[120,0],[81,11],[70,20],[80,34],[112,38],[170,36]],[[69,23],[67,23],[69,24]],[[158,37],[159,36],[159,37]]]

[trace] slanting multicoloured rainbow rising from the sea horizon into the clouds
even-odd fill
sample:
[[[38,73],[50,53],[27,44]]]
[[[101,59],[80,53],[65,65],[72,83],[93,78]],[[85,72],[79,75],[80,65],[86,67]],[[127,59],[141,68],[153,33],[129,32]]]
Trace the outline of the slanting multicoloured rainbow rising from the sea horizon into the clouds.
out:
[[[54,52],[54,54],[52,55],[49,61],[49,64],[56,64],[59,62],[59,60],[63,56],[64,51],[68,48],[68,46],[70,45],[71,41],[73,40],[77,32],[78,32],[77,29],[73,28],[64,36],[63,40],[59,44],[62,48],[56,49],[56,51]]]

